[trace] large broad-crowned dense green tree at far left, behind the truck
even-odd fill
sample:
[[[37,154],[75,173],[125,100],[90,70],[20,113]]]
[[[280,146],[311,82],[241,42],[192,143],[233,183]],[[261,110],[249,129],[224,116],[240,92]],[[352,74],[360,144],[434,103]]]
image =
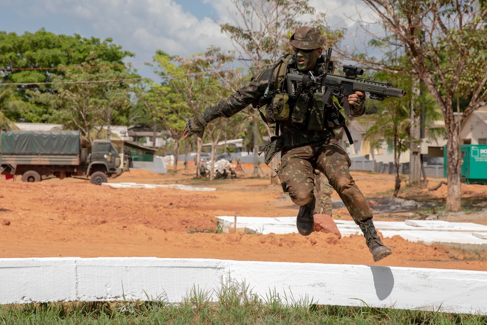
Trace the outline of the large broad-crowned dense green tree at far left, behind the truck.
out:
[[[74,74],[67,68],[83,70],[89,66],[87,62],[97,60],[98,65],[111,65],[112,71],[122,73],[127,70],[123,60],[133,56],[113,44],[111,38],[100,41],[99,38],[82,38],[77,34],[56,35],[43,28],[22,35],[0,32],[0,80],[16,84],[19,98],[26,102],[31,94],[54,94],[55,90],[50,85],[39,83],[63,80],[63,77]],[[49,106],[36,102],[29,108],[9,111],[6,115],[13,120],[54,122],[51,120],[54,112]]]

